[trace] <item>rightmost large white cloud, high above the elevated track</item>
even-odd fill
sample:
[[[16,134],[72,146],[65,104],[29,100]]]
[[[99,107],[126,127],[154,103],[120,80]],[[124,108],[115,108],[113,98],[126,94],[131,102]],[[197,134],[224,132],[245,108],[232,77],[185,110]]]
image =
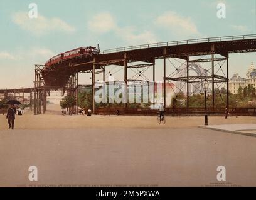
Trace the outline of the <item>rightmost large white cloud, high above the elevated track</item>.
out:
[[[157,17],[155,24],[174,33],[193,34],[200,36],[200,32],[190,17],[183,17],[176,12],[166,12]]]

